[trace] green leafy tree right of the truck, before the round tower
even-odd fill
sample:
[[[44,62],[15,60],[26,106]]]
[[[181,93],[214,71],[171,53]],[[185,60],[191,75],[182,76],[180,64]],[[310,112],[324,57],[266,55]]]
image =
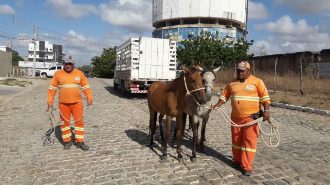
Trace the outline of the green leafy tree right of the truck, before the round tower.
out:
[[[253,45],[253,40],[234,44],[232,41],[228,43],[225,39],[218,38],[219,32],[213,35],[202,31],[201,35],[182,41],[182,46],[177,49],[178,67],[190,66],[191,62],[198,64],[204,62],[205,67],[212,68],[219,67],[222,62],[224,66],[228,66],[236,59],[253,56],[247,54],[249,46]]]

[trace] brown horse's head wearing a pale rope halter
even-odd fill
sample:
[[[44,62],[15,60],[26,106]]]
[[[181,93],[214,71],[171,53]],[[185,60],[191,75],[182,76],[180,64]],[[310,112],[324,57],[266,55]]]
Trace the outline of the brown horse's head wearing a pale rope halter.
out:
[[[188,91],[194,91],[196,89],[203,88],[203,79],[200,75],[201,70],[197,66],[192,66],[190,68],[182,67],[184,70],[185,83],[187,85]],[[207,99],[204,89],[191,92],[191,95],[200,104],[205,104]]]

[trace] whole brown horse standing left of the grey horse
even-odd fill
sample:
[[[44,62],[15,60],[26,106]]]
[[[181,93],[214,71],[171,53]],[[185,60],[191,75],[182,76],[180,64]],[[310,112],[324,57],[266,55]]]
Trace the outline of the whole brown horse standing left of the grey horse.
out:
[[[148,107],[150,111],[150,147],[154,144],[153,136],[156,129],[157,113],[166,115],[166,136],[162,160],[167,159],[166,151],[169,138],[169,128],[171,126],[172,118],[175,117],[177,129],[177,153],[178,161],[180,163],[183,162],[180,148],[181,134],[183,134],[183,111],[186,105],[184,97],[187,93],[191,92],[192,96],[194,96],[200,104],[204,104],[207,101],[200,69],[197,66],[192,66],[190,69],[186,67],[182,68],[184,74],[181,74],[176,80],[170,84],[154,82],[149,86],[147,93]],[[187,92],[185,85],[189,92]]]

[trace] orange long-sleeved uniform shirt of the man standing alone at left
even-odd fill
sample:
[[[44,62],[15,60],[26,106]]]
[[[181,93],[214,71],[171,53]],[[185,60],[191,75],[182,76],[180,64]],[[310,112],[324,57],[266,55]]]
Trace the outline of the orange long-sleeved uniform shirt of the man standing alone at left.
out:
[[[93,101],[92,91],[85,75],[78,69],[67,73],[64,69],[55,72],[52,82],[48,88],[47,103],[53,103],[56,90],[59,103],[75,103],[81,100],[83,90],[87,100]]]

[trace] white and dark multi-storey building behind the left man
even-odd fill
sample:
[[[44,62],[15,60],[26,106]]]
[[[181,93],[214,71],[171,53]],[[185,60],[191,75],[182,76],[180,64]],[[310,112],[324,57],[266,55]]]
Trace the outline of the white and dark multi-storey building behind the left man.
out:
[[[34,43],[29,43],[29,62],[33,62]],[[63,60],[62,45],[50,44],[48,41],[37,41],[36,62],[60,64]]]

